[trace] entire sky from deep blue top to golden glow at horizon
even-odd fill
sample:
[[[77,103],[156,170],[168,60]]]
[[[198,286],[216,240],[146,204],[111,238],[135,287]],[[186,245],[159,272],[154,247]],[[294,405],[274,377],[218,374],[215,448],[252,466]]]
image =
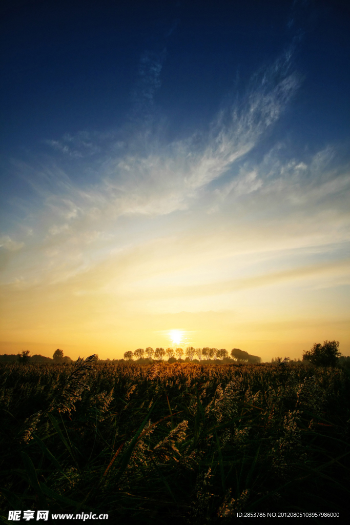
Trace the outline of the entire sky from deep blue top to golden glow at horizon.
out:
[[[0,353],[350,354],[350,6],[12,0]]]

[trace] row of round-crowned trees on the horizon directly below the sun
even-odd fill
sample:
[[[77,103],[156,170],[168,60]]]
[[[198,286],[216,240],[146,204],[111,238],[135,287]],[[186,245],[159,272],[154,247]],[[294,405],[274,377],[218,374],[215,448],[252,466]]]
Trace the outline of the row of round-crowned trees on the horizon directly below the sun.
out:
[[[239,348],[232,348],[231,356],[229,356],[226,348],[217,349],[209,348],[208,346],[205,346],[204,348],[194,348],[193,346],[187,346],[185,351],[182,348],[167,348],[164,350],[162,347],[156,348],[154,350],[152,346],[147,346],[146,349],[137,348],[134,352],[131,350],[124,352],[124,359],[126,361],[133,361],[134,359],[163,361],[165,356],[167,357],[168,361],[183,361],[183,358],[185,358],[185,361],[194,361],[195,356],[197,356],[198,361],[234,360],[241,363],[252,364],[261,362],[261,358],[259,356],[251,355]]]

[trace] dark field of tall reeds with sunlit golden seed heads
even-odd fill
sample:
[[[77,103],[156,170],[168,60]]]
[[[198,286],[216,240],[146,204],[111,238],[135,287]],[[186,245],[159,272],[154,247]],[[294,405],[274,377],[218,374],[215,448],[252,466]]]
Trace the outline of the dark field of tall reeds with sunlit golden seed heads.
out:
[[[4,522],[13,509],[167,525],[246,522],[237,511],[346,515],[345,366],[89,358],[2,364],[0,381]]]

